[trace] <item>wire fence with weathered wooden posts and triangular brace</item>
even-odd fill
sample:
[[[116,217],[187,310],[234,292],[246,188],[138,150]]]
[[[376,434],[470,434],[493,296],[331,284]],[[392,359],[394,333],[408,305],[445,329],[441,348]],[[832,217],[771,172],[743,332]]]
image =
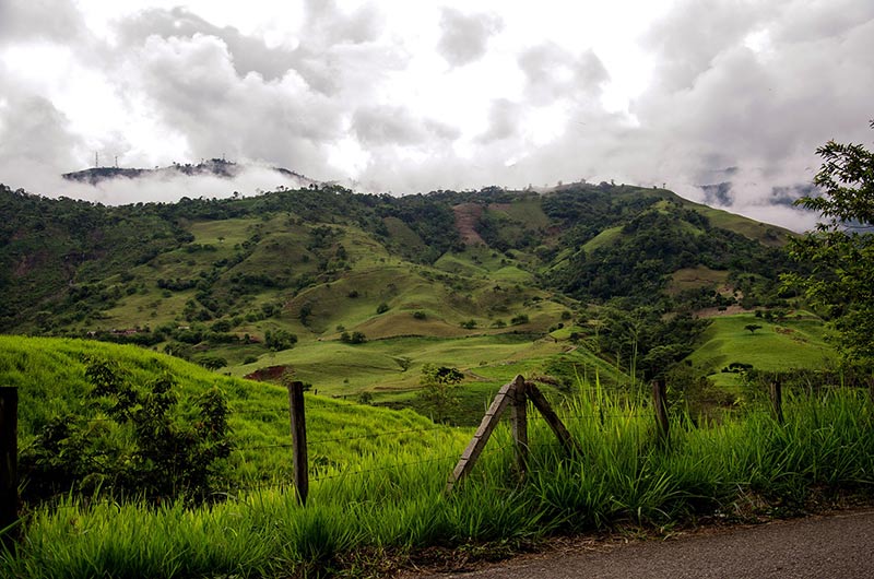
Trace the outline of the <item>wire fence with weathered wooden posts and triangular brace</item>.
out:
[[[368,434],[352,437],[340,438],[324,438],[320,440],[307,441],[306,430],[306,413],[304,404],[304,385],[303,382],[292,382],[288,385],[288,414],[291,422],[291,444],[279,445],[260,445],[248,446],[239,448],[238,450],[257,450],[257,449],[275,449],[288,448],[293,456],[293,481],[290,486],[293,486],[298,501],[306,505],[307,496],[309,493],[310,483],[310,465],[308,463],[308,446],[324,442],[346,441],[358,438],[376,438],[382,436],[398,436],[402,434],[421,434],[427,430],[442,430],[442,426],[435,426],[434,428],[413,428],[403,430],[391,430],[379,434]],[[769,389],[770,409],[776,421],[783,422],[782,414],[782,389],[779,381],[770,383]],[[15,525],[19,518],[19,477],[17,477],[17,389],[16,388],[0,388],[0,534],[3,535],[3,541],[10,541],[14,533],[5,532]],[[516,457],[516,471],[520,477],[524,477],[527,471],[527,458],[530,445],[528,438],[528,424],[531,420],[529,416],[529,403],[531,406],[539,411],[541,416],[550,429],[554,433],[560,445],[567,453],[579,452],[577,442],[568,433],[567,427],[558,417],[556,412],[552,409],[546,398],[540,389],[531,381],[527,381],[522,376],[517,376],[511,382],[504,385],[491,406],[486,411],[480,427],[476,429],[473,438],[468,447],[461,453],[460,458],[457,454],[445,454],[436,458],[427,458],[401,464],[400,466],[408,466],[413,464],[423,464],[428,462],[457,461],[454,469],[449,475],[446,491],[451,492],[457,483],[466,476],[473,469],[477,458],[483,454],[485,446],[492,436],[495,427],[497,426],[501,415],[507,410],[511,409],[510,428],[512,435],[512,447]],[[652,383],[652,407],[654,410],[654,418],[657,425],[657,433],[662,442],[666,442],[670,435],[670,422],[668,416],[668,398],[666,385],[663,380],[656,380]],[[268,411],[255,411],[268,412]],[[271,410],[269,412],[276,412]],[[582,420],[592,418],[594,416],[567,416],[565,420]],[[601,416],[603,420],[603,416]],[[504,448],[495,449],[500,451]],[[388,468],[387,468],[388,469]],[[344,472],[335,475],[323,475],[318,480],[327,480],[339,476],[350,476],[355,474],[374,472],[374,469],[361,472]],[[275,485],[271,486],[275,488]]]

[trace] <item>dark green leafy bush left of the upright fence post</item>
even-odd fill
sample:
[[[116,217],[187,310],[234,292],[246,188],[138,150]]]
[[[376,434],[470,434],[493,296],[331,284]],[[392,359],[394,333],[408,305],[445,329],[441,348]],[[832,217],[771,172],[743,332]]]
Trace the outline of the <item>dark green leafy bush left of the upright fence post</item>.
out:
[[[184,420],[176,381],[162,375],[143,387],[115,362],[88,357],[87,403],[106,418],[59,415],[21,453],[25,498],[47,498],[76,487],[119,496],[203,499],[221,459],[231,452],[228,407],[212,389]]]

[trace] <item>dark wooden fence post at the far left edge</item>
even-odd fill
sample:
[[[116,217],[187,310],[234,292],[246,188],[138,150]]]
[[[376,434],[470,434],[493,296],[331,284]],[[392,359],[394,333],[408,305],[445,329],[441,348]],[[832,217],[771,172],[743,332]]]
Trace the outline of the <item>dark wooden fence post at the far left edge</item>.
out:
[[[19,389],[0,388],[0,531],[19,520]],[[10,546],[14,534],[2,535]]]

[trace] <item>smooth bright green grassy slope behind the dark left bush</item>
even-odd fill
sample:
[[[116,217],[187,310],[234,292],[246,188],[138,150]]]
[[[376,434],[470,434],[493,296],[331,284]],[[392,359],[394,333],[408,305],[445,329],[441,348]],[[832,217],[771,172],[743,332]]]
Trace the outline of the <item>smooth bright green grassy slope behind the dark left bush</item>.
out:
[[[233,378],[211,373],[185,361],[132,345],[106,344],[88,340],[0,336],[0,383],[19,388],[19,428],[22,447],[50,418],[68,413],[91,414],[84,404],[91,388],[85,377],[83,355],[111,359],[131,376],[135,385],[145,385],[168,374],[178,383],[182,405],[215,387],[227,398],[232,415],[233,440],[239,449],[228,459],[236,484],[251,480],[291,480],[292,456],[288,397],[285,388],[267,382]],[[507,380],[507,378],[505,378]],[[326,395],[306,395],[307,429],[310,440],[323,440],[311,452],[315,464],[343,469],[355,464],[347,444],[356,438],[359,454],[382,451],[380,433],[393,435],[391,444],[404,445],[410,452],[425,452],[433,445],[458,448],[470,433],[453,428],[435,429],[435,424],[410,410],[393,411],[334,400]],[[97,417],[91,414],[90,417]],[[427,430],[428,436],[415,436]],[[255,448],[252,448],[255,447]],[[272,450],[271,450],[272,449]]]

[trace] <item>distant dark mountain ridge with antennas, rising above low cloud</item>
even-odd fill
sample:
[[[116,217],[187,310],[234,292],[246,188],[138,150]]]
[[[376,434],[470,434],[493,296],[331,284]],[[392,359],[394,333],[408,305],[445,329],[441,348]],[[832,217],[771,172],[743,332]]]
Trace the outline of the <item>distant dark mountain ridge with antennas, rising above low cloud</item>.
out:
[[[223,158],[211,158],[202,161],[197,164],[174,163],[167,167],[155,167],[153,169],[140,168],[123,168],[123,167],[92,167],[88,169],[78,170],[73,173],[64,173],[62,177],[70,181],[86,182],[90,185],[97,185],[103,181],[111,179],[139,179],[154,177],[158,179],[168,179],[178,176],[213,176],[224,179],[233,179],[239,176],[245,170],[252,168],[251,165],[237,164]],[[310,179],[304,175],[288,170],[281,167],[268,167],[268,170],[275,172],[284,177],[294,179],[298,182],[299,187],[306,187],[310,184],[318,181]]]

